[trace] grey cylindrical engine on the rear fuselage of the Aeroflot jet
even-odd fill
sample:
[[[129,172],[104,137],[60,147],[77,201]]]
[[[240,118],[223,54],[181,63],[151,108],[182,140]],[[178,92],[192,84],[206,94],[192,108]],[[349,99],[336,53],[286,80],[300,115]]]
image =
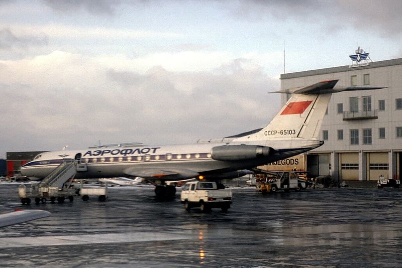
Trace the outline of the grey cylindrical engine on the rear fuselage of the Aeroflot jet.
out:
[[[259,145],[222,145],[212,148],[211,156],[220,161],[239,161],[266,157],[274,151],[271,147]]]

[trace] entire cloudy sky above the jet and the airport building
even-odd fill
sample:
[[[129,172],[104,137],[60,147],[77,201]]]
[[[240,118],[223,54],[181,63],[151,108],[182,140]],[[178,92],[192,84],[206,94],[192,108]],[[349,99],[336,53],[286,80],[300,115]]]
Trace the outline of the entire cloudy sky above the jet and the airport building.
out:
[[[0,157],[262,127],[283,73],[402,57],[401,1],[0,0]]]

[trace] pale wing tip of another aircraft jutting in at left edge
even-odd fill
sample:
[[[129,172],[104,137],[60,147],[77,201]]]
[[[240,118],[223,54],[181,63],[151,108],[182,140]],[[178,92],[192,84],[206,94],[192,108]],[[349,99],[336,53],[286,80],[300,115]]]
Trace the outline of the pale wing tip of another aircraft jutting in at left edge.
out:
[[[14,212],[0,214],[0,227],[48,217],[50,214],[49,211],[40,209],[16,210]]]

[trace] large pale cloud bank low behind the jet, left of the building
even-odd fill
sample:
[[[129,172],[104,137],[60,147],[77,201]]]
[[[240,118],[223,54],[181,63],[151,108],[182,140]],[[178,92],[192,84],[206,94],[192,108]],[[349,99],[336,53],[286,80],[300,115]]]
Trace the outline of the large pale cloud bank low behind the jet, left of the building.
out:
[[[252,64],[238,59],[214,72],[110,69],[78,87],[2,84],[7,142],[0,150],[85,148],[98,140],[193,143],[264,126],[278,109],[279,96],[267,94],[278,82],[245,63]]]

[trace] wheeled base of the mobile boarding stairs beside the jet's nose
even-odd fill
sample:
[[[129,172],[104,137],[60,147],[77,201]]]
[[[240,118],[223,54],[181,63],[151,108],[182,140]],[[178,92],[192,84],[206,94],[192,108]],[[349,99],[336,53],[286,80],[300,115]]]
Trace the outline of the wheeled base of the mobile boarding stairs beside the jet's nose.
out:
[[[31,198],[35,200],[36,204],[44,204],[47,200],[50,200],[51,203],[54,203],[56,200],[57,203],[63,203],[66,198],[72,202],[74,200],[74,192],[75,189],[73,188],[60,189],[59,187],[40,187],[39,184],[30,185],[29,187],[20,185],[18,187],[18,196],[23,205],[31,204]]]

